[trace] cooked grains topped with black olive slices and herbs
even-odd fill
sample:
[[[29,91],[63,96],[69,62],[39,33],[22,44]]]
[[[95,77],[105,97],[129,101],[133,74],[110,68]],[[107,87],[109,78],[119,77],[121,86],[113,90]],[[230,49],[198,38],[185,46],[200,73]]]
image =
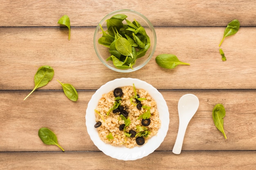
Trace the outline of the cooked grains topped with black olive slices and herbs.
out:
[[[133,148],[143,145],[157,134],[161,125],[157,104],[144,89],[136,89],[138,96],[134,92],[135,86],[118,89],[121,90],[115,91],[118,96],[110,91],[99,100],[95,108],[94,127],[97,128],[100,139],[113,146]]]

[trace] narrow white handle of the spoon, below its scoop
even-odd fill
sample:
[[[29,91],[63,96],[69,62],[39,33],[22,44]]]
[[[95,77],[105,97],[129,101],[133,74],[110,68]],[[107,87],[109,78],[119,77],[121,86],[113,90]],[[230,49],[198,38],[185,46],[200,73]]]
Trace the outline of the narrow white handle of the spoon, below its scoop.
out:
[[[180,154],[181,152],[181,148],[182,148],[182,144],[183,144],[183,139],[185,136],[185,132],[186,132],[186,128],[188,125],[184,125],[184,124],[180,124],[179,125],[179,130],[178,130],[178,134],[177,134],[177,138],[175,141],[175,144],[173,146],[173,153],[174,154]]]

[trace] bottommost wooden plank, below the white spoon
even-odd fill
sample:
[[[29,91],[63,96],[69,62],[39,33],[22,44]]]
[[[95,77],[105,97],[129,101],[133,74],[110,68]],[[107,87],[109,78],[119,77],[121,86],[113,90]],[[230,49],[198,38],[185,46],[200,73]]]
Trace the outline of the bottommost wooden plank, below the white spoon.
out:
[[[153,152],[135,161],[120,161],[102,152],[0,152],[0,168],[16,169],[83,169],[83,170],[253,170],[256,151],[171,151]],[[218,161],[217,161],[218,160]]]

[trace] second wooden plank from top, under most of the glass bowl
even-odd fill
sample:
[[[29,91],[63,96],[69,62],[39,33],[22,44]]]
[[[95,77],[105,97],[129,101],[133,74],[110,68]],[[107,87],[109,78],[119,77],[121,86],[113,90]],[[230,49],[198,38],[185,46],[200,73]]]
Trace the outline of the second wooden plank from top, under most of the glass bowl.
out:
[[[138,78],[157,89],[255,88],[256,27],[242,27],[224,40],[221,48],[226,62],[218,47],[224,28],[156,27],[155,54],[146,66],[132,73],[117,73],[100,62],[93,47],[94,30],[73,28],[69,41],[65,28],[1,27],[0,75],[4,78],[0,89],[33,89],[34,74],[42,65],[52,66],[55,75],[41,89],[61,89],[59,79],[79,90],[96,90],[120,77]],[[155,57],[162,53],[175,54],[191,65],[161,68]]]

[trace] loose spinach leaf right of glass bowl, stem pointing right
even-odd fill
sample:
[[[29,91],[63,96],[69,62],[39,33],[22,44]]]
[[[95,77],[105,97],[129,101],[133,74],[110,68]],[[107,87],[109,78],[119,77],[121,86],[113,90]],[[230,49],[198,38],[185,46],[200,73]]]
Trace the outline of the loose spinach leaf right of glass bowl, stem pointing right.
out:
[[[190,65],[189,63],[181,62],[175,55],[173,54],[160,54],[155,58],[157,64],[163,68],[172,69],[177,65]]]

